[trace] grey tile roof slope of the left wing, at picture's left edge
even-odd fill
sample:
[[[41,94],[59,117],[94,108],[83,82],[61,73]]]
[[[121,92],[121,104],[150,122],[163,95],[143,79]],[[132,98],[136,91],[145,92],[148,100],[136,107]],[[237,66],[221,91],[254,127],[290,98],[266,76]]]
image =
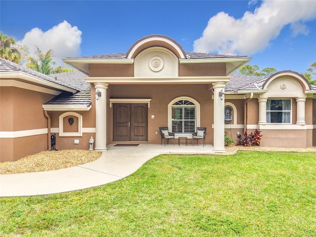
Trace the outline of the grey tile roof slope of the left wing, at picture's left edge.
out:
[[[0,58],[0,72],[23,72],[23,73],[32,75],[34,77],[37,77],[39,79],[43,79],[43,80],[50,81],[50,82],[58,84],[58,85],[62,85],[62,86],[65,86],[65,87],[68,87],[71,89],[75,89],[70,84],[67,84],[67,83],[60,81],[58,79],[56,80],[56,79],[51,78],[47,75],[44,75],[44,74],[41,74],[35,70],[32,70],[28,67],[19,65],[17,63],[13,63],[13,62],[8,61],[8,60],[3,59],[3,58]]]

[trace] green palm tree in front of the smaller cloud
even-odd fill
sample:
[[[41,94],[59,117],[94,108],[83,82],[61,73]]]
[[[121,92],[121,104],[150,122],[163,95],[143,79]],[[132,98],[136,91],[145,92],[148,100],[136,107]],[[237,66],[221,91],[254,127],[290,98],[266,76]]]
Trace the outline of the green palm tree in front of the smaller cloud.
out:
[[[29,57],[26,66],[45,75],[52,74],[54,69],[51,65],[56,65],[52,59],[54,51],[49,49],[47,52],[43,53],[38,46],[36,47],[36,58]]]

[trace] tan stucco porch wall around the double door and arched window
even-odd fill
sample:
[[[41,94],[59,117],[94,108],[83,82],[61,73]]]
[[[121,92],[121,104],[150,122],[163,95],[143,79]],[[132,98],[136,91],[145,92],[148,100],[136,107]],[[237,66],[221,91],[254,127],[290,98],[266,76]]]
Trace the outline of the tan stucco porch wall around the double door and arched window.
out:
[[[212,92],[208,90],[206,84],[199,85],[109,85],[109,98],[150,98],[150,108],[148,108],[148,142],[160,144],[160,134],[155,134],[158,127],[168,125],[168,104],[173,99],[180,96],[192,97],[200,103],[200,126],[207,127],[206,143],[213,143],[213,101]],[[113,141],[112,123],[113,110],[108,108],[108,136],[107,143]],[[152,119],[152,115],[155,116]]]

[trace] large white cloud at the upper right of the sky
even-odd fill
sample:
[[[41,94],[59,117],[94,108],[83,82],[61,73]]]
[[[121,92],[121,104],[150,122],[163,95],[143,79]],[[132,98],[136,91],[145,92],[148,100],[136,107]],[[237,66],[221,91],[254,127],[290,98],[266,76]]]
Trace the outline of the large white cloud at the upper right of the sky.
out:
[[[267,47],[288,24],[292,36],[307,35],[304,22],[315,17],[314,0],[266,0],[240,19],[219,12],[209,19],[202,37],[195,40],[194,51],[250,55]]]

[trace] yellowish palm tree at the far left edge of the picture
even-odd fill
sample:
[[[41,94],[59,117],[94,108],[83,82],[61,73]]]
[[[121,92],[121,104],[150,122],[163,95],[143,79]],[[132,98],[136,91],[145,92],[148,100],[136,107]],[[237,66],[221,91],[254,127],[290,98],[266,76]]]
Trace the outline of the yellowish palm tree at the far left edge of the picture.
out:
[[[0,57],[14,63],[21,61],[21,53],[14,47],[15,39],[0,32]]]

